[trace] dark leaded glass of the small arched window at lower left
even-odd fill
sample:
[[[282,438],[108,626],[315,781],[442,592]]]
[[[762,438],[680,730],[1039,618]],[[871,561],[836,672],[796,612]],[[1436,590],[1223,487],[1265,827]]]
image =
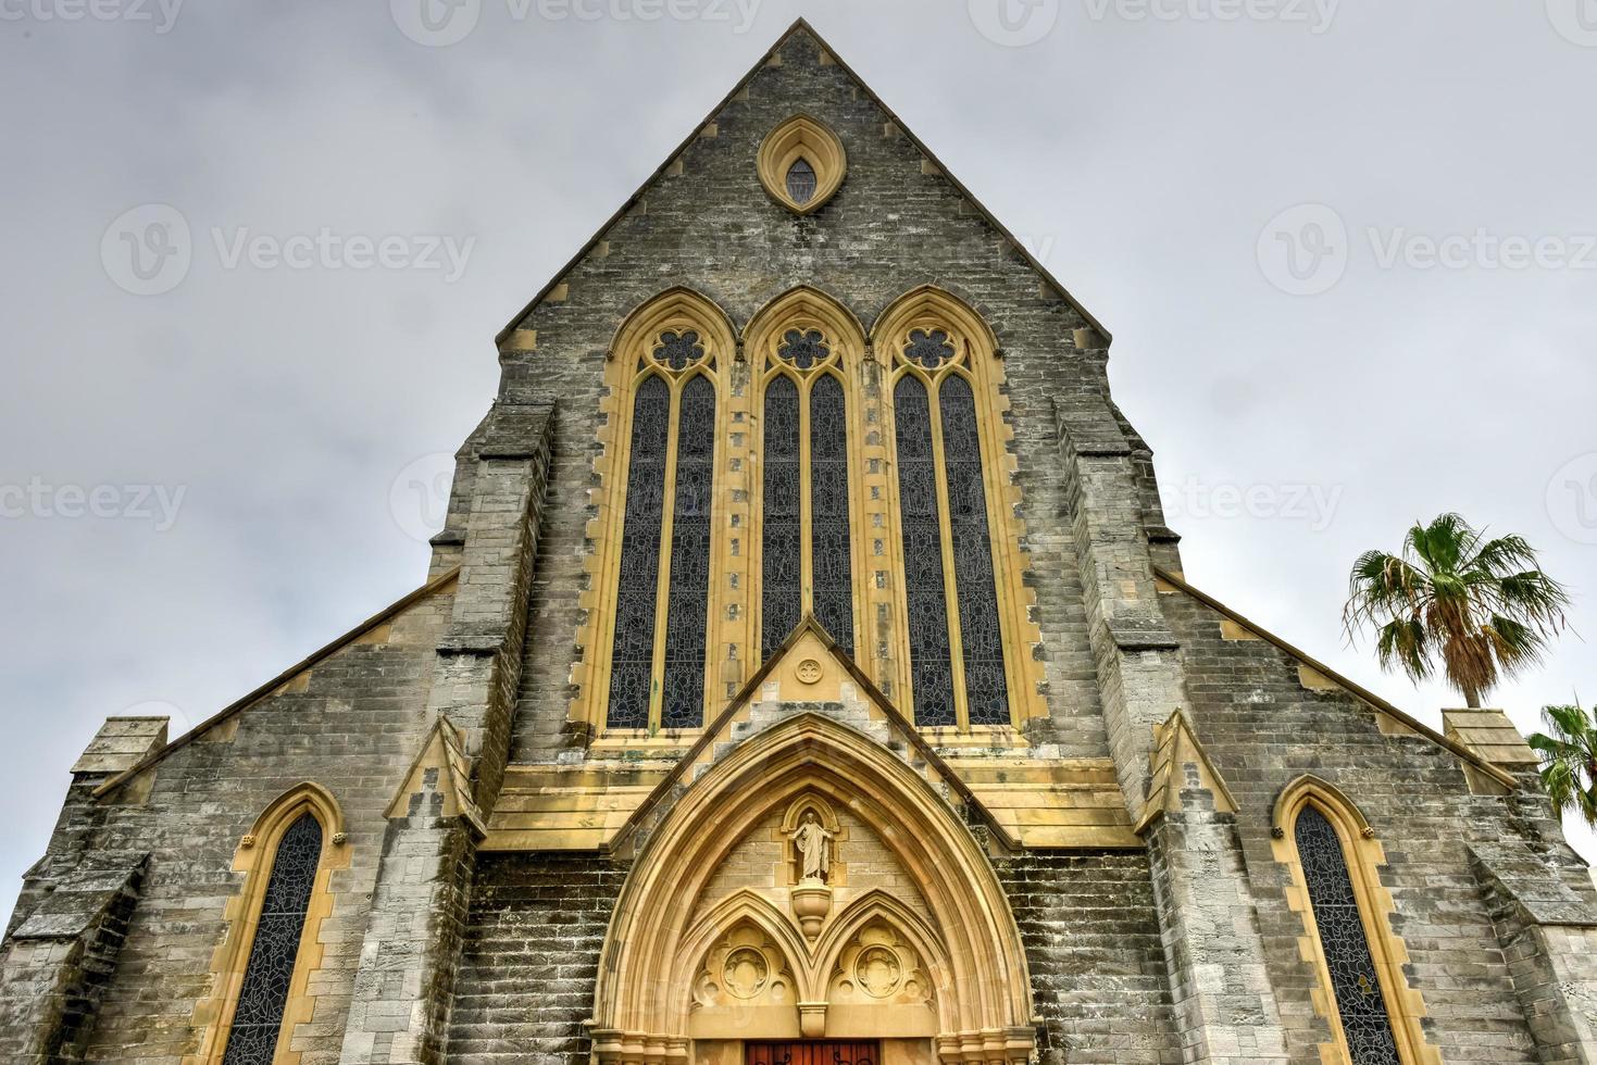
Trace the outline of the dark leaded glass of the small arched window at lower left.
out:
[[[271,862],[224,1065],[271,1065],[319,864],[321,822],[307,813],[283,833]]]

